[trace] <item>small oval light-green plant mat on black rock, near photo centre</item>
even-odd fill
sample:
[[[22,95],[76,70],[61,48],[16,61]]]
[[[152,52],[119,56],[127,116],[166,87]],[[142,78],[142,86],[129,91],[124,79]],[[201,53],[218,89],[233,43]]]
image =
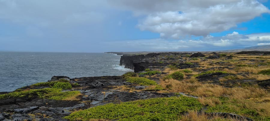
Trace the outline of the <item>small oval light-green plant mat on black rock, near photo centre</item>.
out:
[[[144,78],[144,77],[128,77],[126,78],[127,82],[139,84],[139,85],[157,85],[157,82]]]

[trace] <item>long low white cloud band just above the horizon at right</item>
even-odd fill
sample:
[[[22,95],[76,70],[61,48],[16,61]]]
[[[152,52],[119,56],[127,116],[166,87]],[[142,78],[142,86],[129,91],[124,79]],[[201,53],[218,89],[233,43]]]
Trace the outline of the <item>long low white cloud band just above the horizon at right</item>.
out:
[[[235,37],[232,38],[232,36]],[[123,45],[142,51],[209,51],[240,49],[255,45],[270,45],[269,42],[270,33],[242,35],[238,32],[233,32],[226,36],[206,36],[193,40],[142,39],[113,43],[107,42],[105,45],[114,45],[118,48]]]

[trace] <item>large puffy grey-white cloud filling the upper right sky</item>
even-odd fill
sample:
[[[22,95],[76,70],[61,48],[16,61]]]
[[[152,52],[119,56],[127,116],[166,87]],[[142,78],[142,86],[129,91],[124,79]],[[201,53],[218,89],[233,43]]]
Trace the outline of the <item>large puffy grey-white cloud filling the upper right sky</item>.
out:
[[[132,10],[135,15],[146,15],[138,24],[141,30],[173,39],[222,32],[262,13],[270,13],[257,0],[115,0],[110,3]]]

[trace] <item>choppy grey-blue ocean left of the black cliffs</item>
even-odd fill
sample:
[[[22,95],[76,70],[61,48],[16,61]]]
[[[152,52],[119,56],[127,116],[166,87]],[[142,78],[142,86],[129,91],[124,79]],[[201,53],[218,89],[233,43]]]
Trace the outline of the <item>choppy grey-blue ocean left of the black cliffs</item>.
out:
[[[54,75],[74,77],[122,75],[120,56],[110,53],[0,52],[0,92],[46,82]]]

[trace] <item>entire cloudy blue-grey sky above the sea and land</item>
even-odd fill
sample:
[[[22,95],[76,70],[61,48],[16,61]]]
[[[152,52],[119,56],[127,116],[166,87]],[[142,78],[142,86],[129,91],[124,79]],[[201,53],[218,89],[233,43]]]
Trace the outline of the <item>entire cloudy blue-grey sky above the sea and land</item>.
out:
[[[268,0],[0,0],[0,51],[213,51],[270,45]]]

